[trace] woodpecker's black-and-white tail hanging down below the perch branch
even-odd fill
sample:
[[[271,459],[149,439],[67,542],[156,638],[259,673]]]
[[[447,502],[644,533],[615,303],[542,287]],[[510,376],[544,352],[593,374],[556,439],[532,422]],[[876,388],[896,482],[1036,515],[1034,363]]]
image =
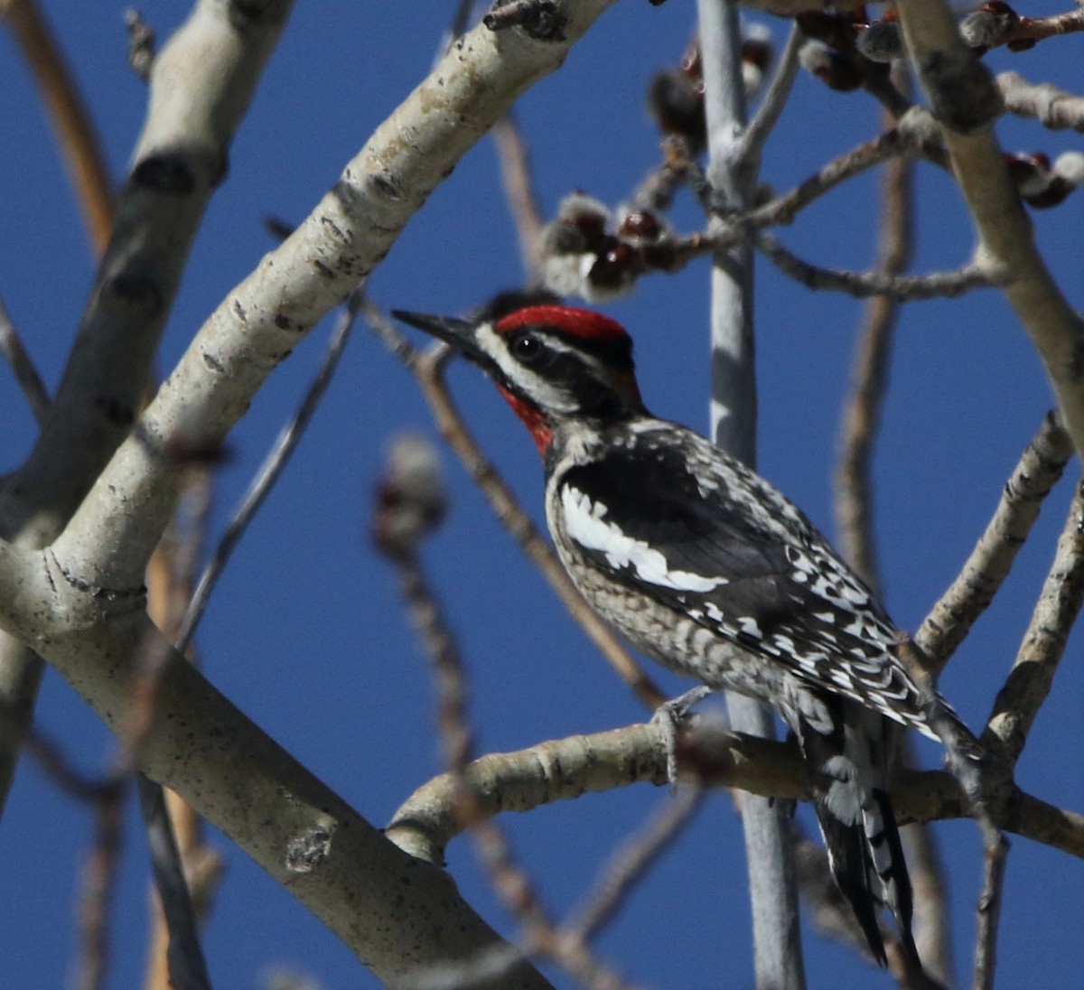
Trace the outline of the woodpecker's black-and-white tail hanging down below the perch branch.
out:
[[[850,708],[850,703],[842,705]],[[911,877],[886,786],[891,731],[881,716],[854,706],[840,712],[829,733],[808,724],[798,732],[814,769],[815,810],[831,875],[882,966],[887,959],[877,920],[881,907],[895,916],[901,946],[918,962],[911,930]]]

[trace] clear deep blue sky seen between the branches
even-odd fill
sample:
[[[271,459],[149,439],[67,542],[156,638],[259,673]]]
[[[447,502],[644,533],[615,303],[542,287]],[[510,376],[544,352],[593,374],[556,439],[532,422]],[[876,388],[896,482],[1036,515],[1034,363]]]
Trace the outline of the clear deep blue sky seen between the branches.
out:
[[[122,176],[144,108],[144,87],[126,68],[124,4],[43,3],[82,83],[113,172]],[[149,2],[159,37],[186,4]],[[1049,10],[1031,13],[1053,12]],[[671,0],[616,4],[573,49],[566,66],[517,110],[531,144],[547,214],[572,189],[617,203],[657,159],[643,111],[650,74],[673,63],[694,8]],[[168,370],[206,314],[273,246],[262,218],[297,221],[336,179],[372,129],[426,73],[449,4],[416,0],[409,17],[374,2],[302,3],[293,16],[231,154],[196,241],[158,369]],[[783,22],[766,22],[777,39]],[[1080,91],[1080,42],[1055,39],[1032,53],[991,56],[1034,81]],[[764,181],[784,190],[867,139],[877,107],[863,94],[827,91],[806,76],[769,144]],[[93,273],[88,241],[18,53],[0,34],[0,294],[50,385],[59,380]],[[1080,149],[1074,134],[1028,121],[999,125],[1009,150],[1054,157]],[[918,170],[920,271],[956,268],[973,244],[951,182]],[[876,180],[852,182],[780,231],[793,250],[822,263],[864,269],[875,243]],[[1034,215],[1036,236],[1070,299],[1080,287],[1082,201]],[[687,195],[683,230],[700,216]],[[661,415],[707,421],[707,262],[645,280],[606,311],[636,339],[642,388]],[[387,307],[454,313],[522,281],[493,149],[483,140],[411,222],[371,282]],[[760,468],[826,531],[842,389],[861,305],[811,294],[758,260]],[[218,475],[212,528],[232,505],[312,374],[330,321],[268,383],[231,440]],[[470,424],[535,515],[541,467],[521,426],[473,369],[450,374]],[[0,472],[34,440],[33,421],[0,368]],[[876,513],[886,601],[907,629],[956,574],[1002,485],[1049,407],[1027,339],[994,292],[913,304],[898,332],[876,461]],[[397,601],[393,576],[365,532],[371,493],[388,439],[431,433],[409,375],[359,330],[338,377],[289,472],[223,577],[198,637],[214,683],[376,824],[439,770],[424,658]],[[495,524],[451,457],[454,511],[426,552],[472,674],[472,713],[482,751],[515,749],[570,733],[614,728],[644,712],[563,615],[541,579]],[[1020,562],[991,613],[953,659],[946,696],[981,727],[1048,567],[1079,468],[1050,496]],[[684,684],[659,674],[676,693]],[[1021,785],[1061,807],[1084,807],[1084,673],[1080,638],[1067,656],[1019,766]],[[87,772],[108,766],[105,730],[55,674],[39,724]],[[937,766],[932,747],[922,750]],[[667,800],[647,786],[583,797],[506,824],[555,913],[582,896],[615,844]],[[806,824],[809,824],[806,822]],[[113,918],[111,987],[138,986],[146,928],[146,869],[130,814]],[[966,978],[978,891],[979,841],[966,822],[935,827],[949,864],[957,973]],[[240,850],[227,858],[206,950],[216,986],[255,988],[268,966],[310,973],[326,988],[375,980],[291,896]],[[62,986],[76,952],[78,877],[90,843],[85,809],[25,764],[0,843],[0,981]],[[450,851],[464,895],[493,924],[508,920],[479,880],[466,843]],[[1027,986],[1041,959],[1044,983],[1075,986],[1084,864],[1016,839],[1002,923],[1001,985]],[[812,987],[889,986],[886,976],[805,933]],[[604,955],[646,986],[751,985],[740,830],[730,799],[713,796],[602,941]],[[555,976],[558,982],[562,977]]]

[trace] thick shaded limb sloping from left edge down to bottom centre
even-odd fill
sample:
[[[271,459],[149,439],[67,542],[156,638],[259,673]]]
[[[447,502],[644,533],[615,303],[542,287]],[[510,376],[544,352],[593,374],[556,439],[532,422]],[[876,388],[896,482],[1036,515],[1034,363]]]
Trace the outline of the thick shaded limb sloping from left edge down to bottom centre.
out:
[[[249,721],[176,651],[138,599],[93,608],[56,580],[48,551],[0,544],[0,622],[35,643],[108,724],[142,712],[133,691],[147,651],[163,660],[138,759],[180,794],[349,946],[388,986],[421,968],[501,946],[440,870],[396,849]],[[91,612],[107,608],[93,623]],[[520,965],[490,986],[546,987]]]

